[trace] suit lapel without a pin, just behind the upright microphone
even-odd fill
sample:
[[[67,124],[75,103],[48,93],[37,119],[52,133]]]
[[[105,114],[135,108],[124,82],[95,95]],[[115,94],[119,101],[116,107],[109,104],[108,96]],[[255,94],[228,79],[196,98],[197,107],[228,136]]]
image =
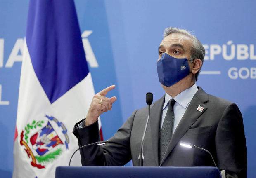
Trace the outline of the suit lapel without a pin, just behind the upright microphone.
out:
[[[153,154],[156,160],[156,165],[159,165],[159,161],[158,161],[159,128],[160,128],[160,120],[162,117],[162,110],[164,105],[164,96],[158,101],[156,101],[154,105],[152,105],[152,108],[150,108],[149,123],[151,127],[152,147],[153,147]]]

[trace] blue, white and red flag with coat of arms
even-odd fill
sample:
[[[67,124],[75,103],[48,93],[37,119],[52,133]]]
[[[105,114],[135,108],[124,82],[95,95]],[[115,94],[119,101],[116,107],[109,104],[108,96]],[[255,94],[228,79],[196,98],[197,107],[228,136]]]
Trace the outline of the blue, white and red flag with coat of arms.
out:
[[[13,178],[53,178],[56,166],[68,166],[78,148],[73,126],[86,117],[94,94],[73,0],[31,0]],[[71,165],[81,165],[79,154]]]

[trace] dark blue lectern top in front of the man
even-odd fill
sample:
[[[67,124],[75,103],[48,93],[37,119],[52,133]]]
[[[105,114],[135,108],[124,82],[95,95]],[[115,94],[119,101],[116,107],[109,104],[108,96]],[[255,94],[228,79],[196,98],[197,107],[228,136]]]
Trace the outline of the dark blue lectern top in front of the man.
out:
[[[216,167],[59,166],[55,178],[221,178]]]

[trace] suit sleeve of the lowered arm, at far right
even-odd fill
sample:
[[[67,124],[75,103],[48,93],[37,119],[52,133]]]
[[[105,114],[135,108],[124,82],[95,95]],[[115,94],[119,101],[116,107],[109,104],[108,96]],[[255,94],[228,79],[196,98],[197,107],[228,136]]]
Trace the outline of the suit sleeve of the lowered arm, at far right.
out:
[[[246,178],[247,149],[242,114],[237,105],[228,105],[217,126],[216,154],[218,168],[226,178]]]

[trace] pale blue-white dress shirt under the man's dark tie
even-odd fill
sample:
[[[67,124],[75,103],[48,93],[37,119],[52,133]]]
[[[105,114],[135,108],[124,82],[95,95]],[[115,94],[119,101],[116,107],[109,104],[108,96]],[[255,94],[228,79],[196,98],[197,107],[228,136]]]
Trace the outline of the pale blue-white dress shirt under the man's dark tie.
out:
[[[194,84],[192,87],[185,89],[182,91],[180,94],[175,96],[175,98],[171,97],[167,93],[165,93],[165,101],[164,101],[164,106],[163,106],[163,115],[161,119],[161,129],[164,123],[164,118],[167,113],[168,109],[168,102],[170,99],[174,99],[176,103],[173,106],[173,111],[174,111],[174,126],[173,126],[173,133],[175,129],[177,128],[178,124],[180,123],[181,118],[183,117],[185,111],[187,110],[187,106],[190,104],[190,101],[192,100],[194,94],[197,93],[197,85]]]

